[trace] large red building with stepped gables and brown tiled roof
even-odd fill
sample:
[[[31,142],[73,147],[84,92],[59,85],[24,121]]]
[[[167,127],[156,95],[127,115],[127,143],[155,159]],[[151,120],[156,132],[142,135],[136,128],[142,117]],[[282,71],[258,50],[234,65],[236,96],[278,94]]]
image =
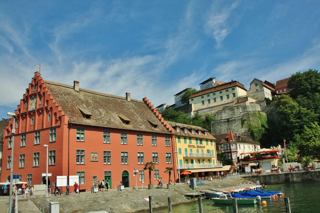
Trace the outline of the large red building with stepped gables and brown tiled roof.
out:
[[[137,169],[137,181],[147,185],[149,174],[143,168],[150,161],[156,163],[152,184],[159,176],[166,183],[165,168],[174,167],[171,127],[147,98],[133,100],[130,93],[103,94],[79,88],[78,81],[74,86],[46,81],[35,72],[15,110],[15,124],[12,119],[4,129],[1,182],[10,179],[13,127],[13,174],[22,175],[29,185],[46,182],[44,145],[49,145],[49,184],[56,176],[79,175],[81,189],[102,179],[112,188],[121,181],[125,187],[135,186]]]

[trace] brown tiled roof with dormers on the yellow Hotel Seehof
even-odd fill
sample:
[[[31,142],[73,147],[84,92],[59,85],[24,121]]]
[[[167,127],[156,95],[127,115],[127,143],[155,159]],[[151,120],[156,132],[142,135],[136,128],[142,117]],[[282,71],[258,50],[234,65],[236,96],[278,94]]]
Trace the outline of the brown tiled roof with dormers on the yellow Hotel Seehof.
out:
[[[176,126],[180,127],[180,131],[179,132],[174,131],[175,135],[184,136],[184,137],[194,137],[194,138],[208,139],[208,140],[216,140],[215,137],[213,137],[208,132],[208,130],[206,130],[206,129],[200,127],[200,126],[192,126],[192,125],[188,125],[188,124],[180,124],[180,123],[171,122],[171,121],[167,121],[167,123],[174,129],[176,129],[175,128]],[[181,129],[181,128],[188,128],[188,131],[185,133],[184,129]],[[195,133],[192,134],[190,129],[194,129]],[[200,130],[202,132],[201,135],[199,135],[196,130]],[[207,131],[207,135],[205,135],[203,131]]]

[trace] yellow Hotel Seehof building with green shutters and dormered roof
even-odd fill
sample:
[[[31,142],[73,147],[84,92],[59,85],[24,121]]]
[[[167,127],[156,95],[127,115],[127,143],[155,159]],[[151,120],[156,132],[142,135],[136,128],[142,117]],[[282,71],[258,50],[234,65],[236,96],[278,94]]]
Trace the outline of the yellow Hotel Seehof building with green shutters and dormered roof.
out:
[[[217,164],[216,139],[206,129],[170,121],[167,123],[174,129],[177,169],[180,173],[189,171],[192,173],[190,177],[207,177],[221,171],[222,164]]]

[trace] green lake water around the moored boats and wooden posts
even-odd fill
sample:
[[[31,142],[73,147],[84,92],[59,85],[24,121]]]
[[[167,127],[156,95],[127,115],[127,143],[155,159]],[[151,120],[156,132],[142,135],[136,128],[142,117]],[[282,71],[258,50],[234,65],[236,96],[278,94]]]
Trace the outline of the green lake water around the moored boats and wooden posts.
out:
[[[284,196],[279,196],[275,200],[262,199],[267,201],[266,206],[261,204],[240,204],[238,205],[239,213],[285,213],[284,197],[290,199],[290,207],[292,213],[320,213],[320,182],[308,183],[291,183],[268,185],[266,190],[282,191]],[[174,199],[174,198],[171,198]],[[211,200],[202,200],[204,213],[233,213],[232,205],[216,204]],[[168,212],[168,208],[154,211]],[[172,206],[173,213],[198,213],[198,201]]]

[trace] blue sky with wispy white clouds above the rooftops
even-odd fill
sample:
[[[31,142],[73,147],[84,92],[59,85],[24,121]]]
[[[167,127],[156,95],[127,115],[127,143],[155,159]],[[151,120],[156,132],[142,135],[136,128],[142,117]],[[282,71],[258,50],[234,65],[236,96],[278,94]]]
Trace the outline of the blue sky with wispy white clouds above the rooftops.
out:
[[[211,77],[319,69],[319,1],[1,1],[0,118],[45,80],[156,107]]]

